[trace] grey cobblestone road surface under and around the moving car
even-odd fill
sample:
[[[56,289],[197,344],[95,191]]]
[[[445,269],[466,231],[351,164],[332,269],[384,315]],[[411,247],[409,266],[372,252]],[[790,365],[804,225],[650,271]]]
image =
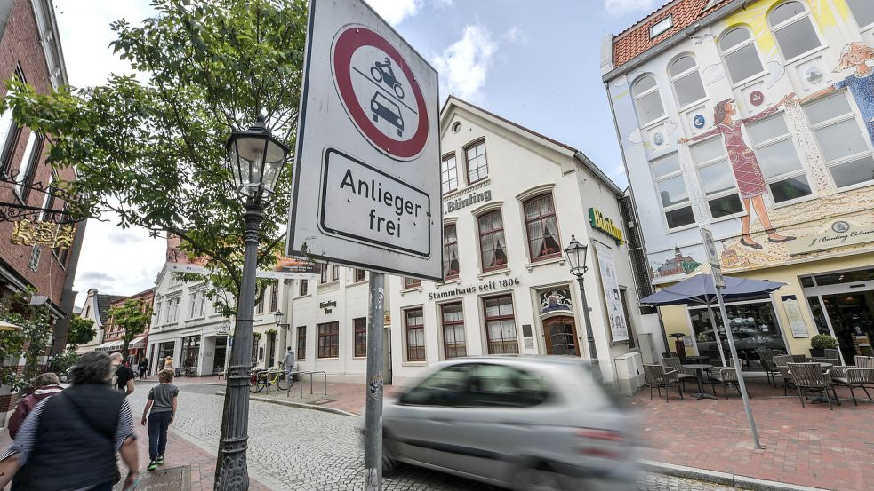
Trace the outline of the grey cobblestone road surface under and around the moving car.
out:
[[[138,414],[150,383],[137,384],[131,396]],[[222,399],[215,385],[180,381],[179,411],[171,428],[191,443],[214,454],[219,438]],[[253,401],[249,418],[249,469],[253,478],[275,489],[351,491],[364,487],[364,458],[356,418]],[[172,453],[172,448],[168,448]],[[389,491],[499,491],[436,471],[403,466],[383,481]],[[686,479],[646,474],[639,490],[726,491]]]

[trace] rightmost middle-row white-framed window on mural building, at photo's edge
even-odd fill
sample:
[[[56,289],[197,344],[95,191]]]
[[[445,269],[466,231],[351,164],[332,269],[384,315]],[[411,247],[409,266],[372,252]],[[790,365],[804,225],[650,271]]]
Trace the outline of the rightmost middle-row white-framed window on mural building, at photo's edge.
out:
[[[846,91],[804,106],[816,143],[838,189],[874,181],[868,131],[846,98]]]

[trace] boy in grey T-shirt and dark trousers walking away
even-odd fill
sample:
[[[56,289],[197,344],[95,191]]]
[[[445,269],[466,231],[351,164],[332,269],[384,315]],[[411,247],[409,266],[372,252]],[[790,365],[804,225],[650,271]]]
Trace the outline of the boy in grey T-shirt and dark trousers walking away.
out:
[[[161,382],[148,391],[146,408],[142,410],[142,425],[148,418],[148,467],[154,471],[164,463],[164,452],[167,449],[167,428],[176,417],[176,399],[179,388],[173,384],[173,371],[161,370],[157,374]],[[151,411],[149,411],[149,409]]]

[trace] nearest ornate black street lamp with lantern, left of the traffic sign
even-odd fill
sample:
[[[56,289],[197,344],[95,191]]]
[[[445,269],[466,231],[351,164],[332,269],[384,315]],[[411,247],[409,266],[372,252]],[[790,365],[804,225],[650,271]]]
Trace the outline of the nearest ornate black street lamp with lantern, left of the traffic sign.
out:
[[[249,488],[246,448],[249,439],[249,373],[252,369],[252,322],[255,313],[255,273],[264,203],[276,191],[288,147],[275,139],[259,115],[246,131],[233,131],[227,145],[229,170],[237,193],[245,198],[243,281],[237,298],[237,326],[231,347],[228,391],[221,418],[215,489]]]

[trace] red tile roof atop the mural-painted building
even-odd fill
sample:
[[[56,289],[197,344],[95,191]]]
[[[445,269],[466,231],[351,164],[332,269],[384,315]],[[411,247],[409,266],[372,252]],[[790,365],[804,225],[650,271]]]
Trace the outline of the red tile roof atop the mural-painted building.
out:
[[[656,44],[673,36],[699,20],[706,14],[713,12],[731,0],[721,0],[704,10],[709,0],[673,0],[659,10],[646,16],[644,20],[626,29],[618,36],[613,36],[613,67],[621,67],[637,55],[649,50]],[[673,26],[659,36],[650,38],[649,28],[653,24],[672,16]]]

